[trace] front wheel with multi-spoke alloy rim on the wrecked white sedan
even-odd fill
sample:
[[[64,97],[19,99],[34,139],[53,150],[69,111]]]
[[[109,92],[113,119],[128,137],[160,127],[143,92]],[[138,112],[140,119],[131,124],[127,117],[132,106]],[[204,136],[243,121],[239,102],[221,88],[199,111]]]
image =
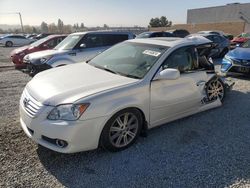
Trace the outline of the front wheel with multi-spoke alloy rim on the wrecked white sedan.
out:
[[[139,110],[133,108],[121,110],[104,126],[100,145],[112,152],[124,150],[137,140],[142,124],[143,118]]]

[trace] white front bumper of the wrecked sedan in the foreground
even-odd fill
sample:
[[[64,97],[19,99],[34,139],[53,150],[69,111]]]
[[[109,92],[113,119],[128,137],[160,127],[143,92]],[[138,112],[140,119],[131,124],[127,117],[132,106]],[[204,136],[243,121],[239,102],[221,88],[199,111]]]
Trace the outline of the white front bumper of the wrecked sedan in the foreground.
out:
[[[26,135],[36,143],[61,153],[75,153],[96,149],[107,117],[77,121],[51,121],[47,119],[53,107],[44,106],[37,117],[30,117],[20,103],[20,123]],[[67,142],[59,147],[55,140]]]

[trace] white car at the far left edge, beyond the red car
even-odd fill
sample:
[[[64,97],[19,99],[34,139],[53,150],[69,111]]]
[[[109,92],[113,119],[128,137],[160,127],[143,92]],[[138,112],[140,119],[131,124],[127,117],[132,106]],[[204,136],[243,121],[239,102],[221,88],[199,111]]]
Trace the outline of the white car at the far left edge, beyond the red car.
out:
[[[35,39],[26,38],[23,35],[5,35],[0,37],[0,44],[5,45],[6,47],[11,46],[23,46],[27,44],[31,44]]]

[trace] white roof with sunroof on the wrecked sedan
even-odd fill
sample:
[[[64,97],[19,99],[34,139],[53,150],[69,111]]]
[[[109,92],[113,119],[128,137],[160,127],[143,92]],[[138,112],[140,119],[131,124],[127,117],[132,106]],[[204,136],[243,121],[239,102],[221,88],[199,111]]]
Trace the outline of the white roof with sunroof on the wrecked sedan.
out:
[[[166,47],[174,46],[189,46],[189,45],[202,45],[212,43],[211,40],[203,36],[189,36],[186,38],[177,37],[156,37],[156,38],[143,38],[143,39],[133,39],[128,42],[144,43],[144,44],[154,44]]]

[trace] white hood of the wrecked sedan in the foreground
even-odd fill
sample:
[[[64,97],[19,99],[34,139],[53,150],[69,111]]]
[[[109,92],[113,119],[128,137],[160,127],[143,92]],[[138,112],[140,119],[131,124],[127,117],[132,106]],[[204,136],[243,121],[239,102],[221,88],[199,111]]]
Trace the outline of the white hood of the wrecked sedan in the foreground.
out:
[[[26,89],[44,105],[56,106],[135,82],[138,80],[78,63],[41,72],[27,84]]]

